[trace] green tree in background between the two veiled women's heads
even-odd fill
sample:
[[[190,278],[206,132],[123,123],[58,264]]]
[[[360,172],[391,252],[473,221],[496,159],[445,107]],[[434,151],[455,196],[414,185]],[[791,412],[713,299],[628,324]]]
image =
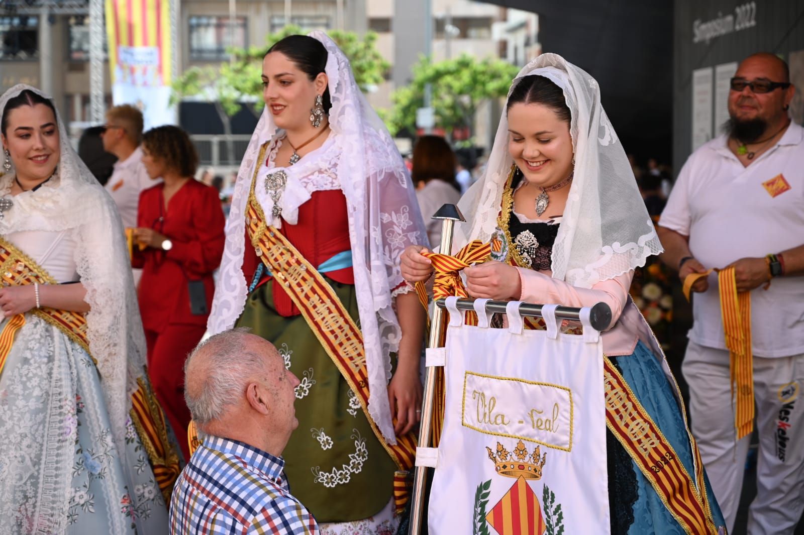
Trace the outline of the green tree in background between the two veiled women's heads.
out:
[[[393,107],[383,114],[393,135],[416,130],[416,110],[425,105],[425,85],[433,88],[436,125],[451,133],[474,126],[478,105],[484,100],[506,96],[519,67],[502,59],[476,59],[462,54],[454,59],[433,62],[421,56],[412,69],[412,80],[392,95]]]

